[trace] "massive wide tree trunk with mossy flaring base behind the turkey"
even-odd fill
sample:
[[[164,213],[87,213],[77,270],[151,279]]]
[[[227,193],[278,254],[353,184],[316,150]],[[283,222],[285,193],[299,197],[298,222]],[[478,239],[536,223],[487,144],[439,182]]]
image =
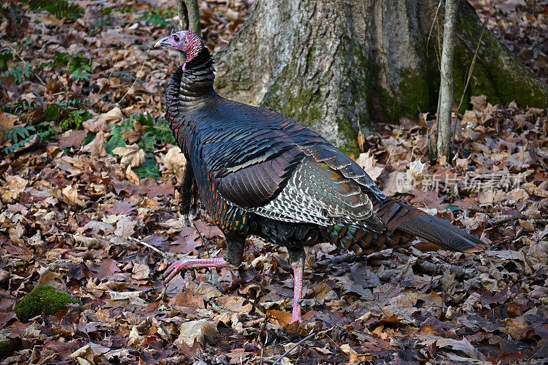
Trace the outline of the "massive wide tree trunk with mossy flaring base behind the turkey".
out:
[[[257,0],[217,57],[216,90],[292,116],[357,153],[358,125],[436,110],[443,14],[429,32],[437,8],[437,0]],[[471,5],[459,1],[458,99],[482,29]],[[484,94],[491,103],[547,106],[546,85],[485,32],[466,100]]]

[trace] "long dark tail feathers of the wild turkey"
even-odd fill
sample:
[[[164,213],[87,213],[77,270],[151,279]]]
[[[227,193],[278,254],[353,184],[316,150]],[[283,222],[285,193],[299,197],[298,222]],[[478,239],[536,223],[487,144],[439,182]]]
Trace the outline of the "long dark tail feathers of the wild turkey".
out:
[[[388,231],[399,229],[437,244],[443,249],[477,252],[486,248],[484,242],[468,232],[393,199],[386,199],[377,213],[386,224]]]

